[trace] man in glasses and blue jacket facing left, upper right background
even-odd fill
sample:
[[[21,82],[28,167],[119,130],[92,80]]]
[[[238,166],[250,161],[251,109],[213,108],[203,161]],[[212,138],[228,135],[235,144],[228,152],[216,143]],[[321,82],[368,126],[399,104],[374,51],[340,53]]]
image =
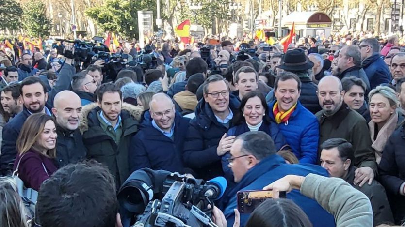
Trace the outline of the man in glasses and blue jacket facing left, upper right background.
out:
[[[370,81],[371,89],[380,84],[389,83],[391,74],[380,55],[380,44],[375,38],[363,39],[359,45],[361,52],[361,66]]]

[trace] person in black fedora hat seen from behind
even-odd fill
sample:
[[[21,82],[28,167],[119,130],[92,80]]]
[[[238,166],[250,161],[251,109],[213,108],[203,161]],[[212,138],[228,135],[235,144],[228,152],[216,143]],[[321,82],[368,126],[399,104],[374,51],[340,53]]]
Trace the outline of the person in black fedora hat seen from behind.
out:
[[[300,78],[302,86],[299,101],[311,113],[315,114],[322,108],[319,106],[318,96],[316,95],[318,87],[308,74],[308,70],[312,69],[313,66],[314,63],[308,60],[304,50],[293,49],[287,51],[283,57],[283,64],[277,66],[277,68],[283,69],[287,72],[292,72]],[[266,96],[266,101],[271,102],[274,99],[274,92],[269,92]]]

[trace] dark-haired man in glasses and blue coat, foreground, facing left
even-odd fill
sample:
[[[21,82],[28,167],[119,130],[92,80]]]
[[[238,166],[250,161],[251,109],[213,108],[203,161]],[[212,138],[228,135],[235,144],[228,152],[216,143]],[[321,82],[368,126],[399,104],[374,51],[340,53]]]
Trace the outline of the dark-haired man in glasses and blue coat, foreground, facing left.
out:
[[[222,198],[222,203],[226,204],[223,211],[228,227],[234,223],[233,210],[237,208],[238,191],[261,190],[267,184],[289,174],[306,176],[309,173],[315,173],[327,176],[327,172],[321,166],[286,164],[276,152],[273,140],[264,132],[252,131],[236,137],[230,150],[231,158],[228,161],[237,184]],[[307,214],[314,227],[335,226],[334,217],[315,200],[301,195],[297,190],[292,190],[287,194],[287,198],[292,199]],[[241,214],[240,225],[244,226],[248,218],[249,214]]]

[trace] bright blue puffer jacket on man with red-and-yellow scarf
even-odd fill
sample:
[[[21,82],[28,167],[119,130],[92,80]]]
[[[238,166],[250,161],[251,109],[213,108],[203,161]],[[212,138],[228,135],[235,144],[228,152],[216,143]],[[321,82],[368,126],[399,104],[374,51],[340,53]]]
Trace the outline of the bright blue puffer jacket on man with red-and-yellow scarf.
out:
[[[273,110],[276,101],[269,104],[269,110]],[[273,114],[270,119],[275,122]],[[319,123],[315,115],[308,111],[298,101],[290,119],[286,123],[278,124],[278,128],[286,138],[287,144],[297,156],[300,163],[315,164],[318,153]]]

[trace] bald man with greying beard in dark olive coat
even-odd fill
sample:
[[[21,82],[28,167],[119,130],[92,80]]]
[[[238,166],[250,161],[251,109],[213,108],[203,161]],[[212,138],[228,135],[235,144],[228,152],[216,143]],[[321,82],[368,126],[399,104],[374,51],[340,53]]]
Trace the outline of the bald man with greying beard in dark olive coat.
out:
[[[336,76],[325,76],[318,84],[318,100],[322,110],[316,113],[319,121],[319,146],[330,138],[344,138],[353,145],[355,171],[354,184],[360,187],[373,182],[377,170],[371,148],[366,120],[343,102],[342,84]],[[318,149],[318,162],[321,149]]]

